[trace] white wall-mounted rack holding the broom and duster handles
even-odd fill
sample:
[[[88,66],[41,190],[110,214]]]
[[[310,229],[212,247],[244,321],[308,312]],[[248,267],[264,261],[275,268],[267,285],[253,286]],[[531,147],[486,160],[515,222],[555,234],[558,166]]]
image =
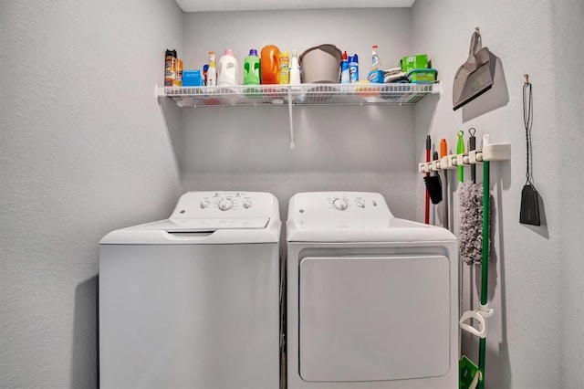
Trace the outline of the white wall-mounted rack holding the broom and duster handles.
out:
[[[482,150],[473,150],[471,152],[464,152],[463,154],[450,154],[429,163],[419,163],[418,173],[452,170],[459,166],[468,166],[484,161],[508,161],[510,159],[510,143],[489,143]]]

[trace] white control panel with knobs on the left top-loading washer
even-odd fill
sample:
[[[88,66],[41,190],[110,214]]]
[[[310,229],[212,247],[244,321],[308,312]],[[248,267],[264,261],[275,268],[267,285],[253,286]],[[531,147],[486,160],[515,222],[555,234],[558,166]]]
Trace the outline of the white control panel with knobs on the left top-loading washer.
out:
[[[270,217],[279,220],[277,199],[264,192],[187,192],[171,219],[206,217]]]

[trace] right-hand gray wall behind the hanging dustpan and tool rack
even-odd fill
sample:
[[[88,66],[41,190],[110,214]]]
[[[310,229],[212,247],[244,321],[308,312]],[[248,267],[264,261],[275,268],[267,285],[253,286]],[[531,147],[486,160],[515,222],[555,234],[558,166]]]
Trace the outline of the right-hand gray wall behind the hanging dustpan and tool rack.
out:
[[[471,127],[477,129],[477,136],[489,133],[492,142],[512,144],[510,162],[491,163],[495,251],[489,268],[489,300],[495,316],[488,321],[487,387],[584,386],[584,83],[582,72],[568,70],[584,65],[582,20],[578,0],[495,1],[489,5],[478,0],[417,0],[412,9],[413,47],[431,55],[443,80],[437,109],[424,104],[416,107],[416,150],[422,151],[427,133],[434,142],[446,138],[455,150],[455,132]],[[481,27],[483,45],[501,59],[497,64],[500,73],[493,90],[472,106],[454,112],[454,74],[468,55],[475,26]],[[545,224],[539,227],[518,223],[526,169],[524,73],[533,83],[534,174],[545,209]],[[496,106],[495,97],[506,93],[508,102],[500,108],[474,114],[473,110],[486,105]],[[450,177],[453,184],[455,173]],[[420,184],[418,193],[422,198]],[[454,193],[456,228],[457,206]],[[480,268],[476,274],[464,268],[464,305],[468,309],[474,300],[476,308]],[[463,352],[475,362],[477,344],[475,338],[464,335]]]

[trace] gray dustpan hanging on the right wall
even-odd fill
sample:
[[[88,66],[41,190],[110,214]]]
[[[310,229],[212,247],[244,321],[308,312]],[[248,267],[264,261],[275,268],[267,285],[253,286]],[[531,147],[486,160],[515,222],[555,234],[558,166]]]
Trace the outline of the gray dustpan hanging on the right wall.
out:
[[[482,47],[481,35],[473,33],[468,59],[454,76],[453,105],[458,110],[493,87],[496,58],[487,47]]]

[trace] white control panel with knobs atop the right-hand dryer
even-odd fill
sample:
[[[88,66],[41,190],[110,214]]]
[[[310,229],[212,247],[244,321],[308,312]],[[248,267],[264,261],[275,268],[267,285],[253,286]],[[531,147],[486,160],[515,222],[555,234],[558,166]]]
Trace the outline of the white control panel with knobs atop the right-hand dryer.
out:
[[[383,227],[393,216],[381,194],[370,192],[310,192],[294,195],[288,220],[297,226]]]

